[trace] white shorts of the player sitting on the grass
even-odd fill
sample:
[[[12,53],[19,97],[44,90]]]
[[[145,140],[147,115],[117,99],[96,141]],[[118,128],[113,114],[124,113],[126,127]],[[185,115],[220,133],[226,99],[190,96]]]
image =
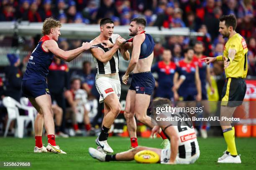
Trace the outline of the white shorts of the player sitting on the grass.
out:
[[[171,150],[170,148],[162,149],[161,150],[161,164],[166,164],[169,162],[171,156]],[[195,161],[199,158],[200,156],[200,150],[196,151],[196,154],[193,155],[190,158],[179,158],[178,156],[176,157],[176,164],[192,164],[195,163]]]

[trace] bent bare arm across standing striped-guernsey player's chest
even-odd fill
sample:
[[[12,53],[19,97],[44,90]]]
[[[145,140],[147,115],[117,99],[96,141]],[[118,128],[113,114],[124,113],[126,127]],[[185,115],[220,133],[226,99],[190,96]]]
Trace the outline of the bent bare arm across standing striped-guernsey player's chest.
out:
[[[118,37],[116,39],[115,45],[107,52],[103,52],[99,48],[92,48],[90,49],[92,55],[97,59],[100,60],[101,62],[108,62],[115,52],[118,50],[118,48],[122,45],[124,39],[122,37]]]

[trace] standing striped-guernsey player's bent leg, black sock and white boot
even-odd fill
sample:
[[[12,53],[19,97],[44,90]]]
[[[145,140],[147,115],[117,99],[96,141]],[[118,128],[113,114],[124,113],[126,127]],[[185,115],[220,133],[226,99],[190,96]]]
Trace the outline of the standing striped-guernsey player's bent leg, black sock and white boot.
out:
[[[99,137],[95,140],[96,144],[107,153],[113,153],[113,149],[108,145],[108,133],[115,118],[121,110],[120,102],[115,93],[108,95],[104,99],[104,118],[102,121],[102,130]]]

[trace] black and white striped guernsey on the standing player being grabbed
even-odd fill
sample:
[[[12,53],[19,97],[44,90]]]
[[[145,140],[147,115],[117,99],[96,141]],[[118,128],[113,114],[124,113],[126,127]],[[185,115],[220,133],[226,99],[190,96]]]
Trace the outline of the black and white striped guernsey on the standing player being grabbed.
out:
[[[119,37],[118,34],[112,34],[110,37],[110,42],[115,44],[116,39]],[[96,37],[97,38],[97,37]],[[95,39],[96,39],[95,38]],[[90,41],[92,43],[95,39]],[[103,50],[104,52],[109,51],[111,48],[104,48],[101,44],[97,44],[98,49]],[[94,56],[93,56],[94,57]],[[119,55],[118,55],[118,50],[115,52],[113,57],[108,61],[108,62],[101,62],[100,60],[97,60],[97,58],[94,57],[94,62],[97,67],[97,74],[98,75],[105,75],[105,74],[111,74],[118,72],[119,68]]]

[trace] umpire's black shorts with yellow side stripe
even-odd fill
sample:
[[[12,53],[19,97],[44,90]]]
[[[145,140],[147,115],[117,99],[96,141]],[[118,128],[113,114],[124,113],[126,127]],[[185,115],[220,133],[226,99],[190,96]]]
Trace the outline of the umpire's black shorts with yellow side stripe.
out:
[[[221,105],[236,107],[242,104],[246,94],[246,82],[243,78],[227,78],[222,90]]]

